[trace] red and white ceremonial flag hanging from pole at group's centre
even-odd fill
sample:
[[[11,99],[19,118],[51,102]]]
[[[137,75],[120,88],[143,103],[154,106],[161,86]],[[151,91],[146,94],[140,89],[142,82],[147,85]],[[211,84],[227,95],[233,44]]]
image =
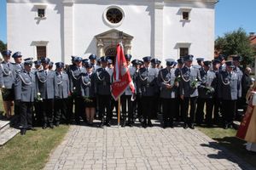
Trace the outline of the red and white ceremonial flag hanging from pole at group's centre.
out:
[[[119,96],[125,92],[127,87],[130,87],[131,92],[134,94],[135,88],[131,81],[130,72],[126,63],[124,48],[122,43],[119,43],[116,48],[116,58],[113,67],[113,99],[117,100]]]

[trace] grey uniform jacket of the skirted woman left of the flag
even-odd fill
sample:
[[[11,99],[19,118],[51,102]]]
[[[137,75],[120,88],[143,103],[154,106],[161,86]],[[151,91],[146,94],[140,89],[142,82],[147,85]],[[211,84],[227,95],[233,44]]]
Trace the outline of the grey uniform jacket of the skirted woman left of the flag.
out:
[[[79,87],[79,94],[85,97],[95,97],[94,90],[95,90],[95,73],[84,73],[80,79],[80,87]]]

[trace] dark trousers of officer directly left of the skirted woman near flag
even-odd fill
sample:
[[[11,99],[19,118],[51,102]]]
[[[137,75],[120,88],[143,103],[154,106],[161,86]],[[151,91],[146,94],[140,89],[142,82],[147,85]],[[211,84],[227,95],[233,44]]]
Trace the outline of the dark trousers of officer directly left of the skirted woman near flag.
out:
[[[84,115],[84,99],[83,97],[76,97],[75,98],[75,121],[79,123],[80,117],[83,118],[84,121],[86,121],[86,117]]]

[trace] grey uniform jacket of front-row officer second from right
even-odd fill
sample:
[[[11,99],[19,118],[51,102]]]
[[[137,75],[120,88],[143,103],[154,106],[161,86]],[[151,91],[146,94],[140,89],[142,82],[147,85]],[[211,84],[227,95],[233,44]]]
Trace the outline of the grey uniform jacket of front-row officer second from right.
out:
[[[202,99],[212,99],[215,94],[215,89],[218,86],[218,77],[214,71],[205,71],[201,69],[201,85],[198,87],[199,97]]]

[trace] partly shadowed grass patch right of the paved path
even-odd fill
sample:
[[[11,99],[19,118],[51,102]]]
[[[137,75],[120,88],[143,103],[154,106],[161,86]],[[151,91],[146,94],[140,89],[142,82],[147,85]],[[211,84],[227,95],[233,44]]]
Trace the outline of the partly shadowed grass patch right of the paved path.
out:
[[[216,140],[218,144],[230,150],[233,154],[240,157],[243,161],[256,167],[256,153],[245,149],[246,142],[236,138],[235,129],[223,129],[219,127],[207,128],[197,127],[202,133],[207,134],[210,138]]]

